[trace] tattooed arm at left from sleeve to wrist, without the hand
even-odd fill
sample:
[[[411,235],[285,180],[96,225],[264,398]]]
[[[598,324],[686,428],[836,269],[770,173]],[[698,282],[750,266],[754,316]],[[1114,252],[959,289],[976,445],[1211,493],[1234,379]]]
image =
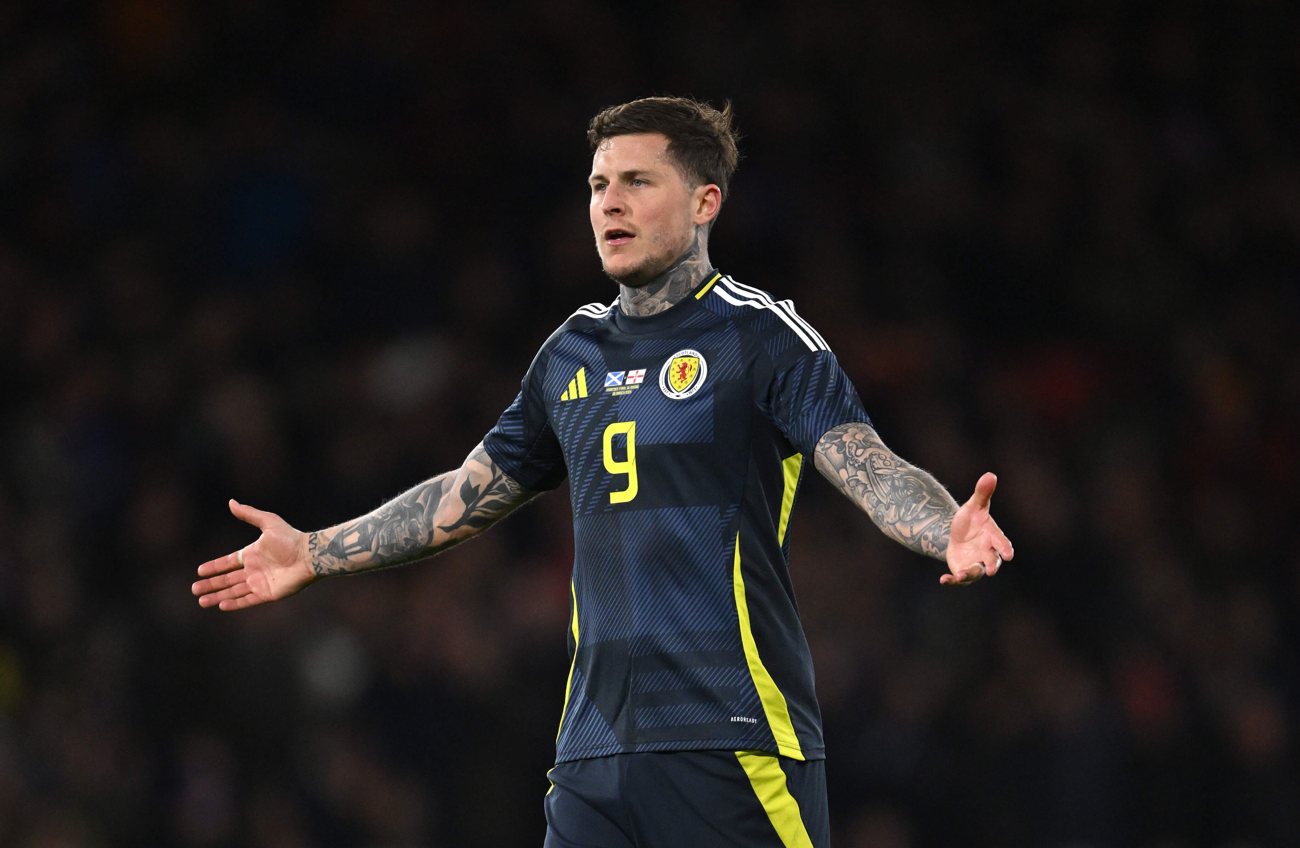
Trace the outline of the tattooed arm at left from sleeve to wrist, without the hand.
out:
[[[351,574],[433,556],[536,497],[480,444],[455,471],[420,483],[355,521],[307,535],[312,570]]]

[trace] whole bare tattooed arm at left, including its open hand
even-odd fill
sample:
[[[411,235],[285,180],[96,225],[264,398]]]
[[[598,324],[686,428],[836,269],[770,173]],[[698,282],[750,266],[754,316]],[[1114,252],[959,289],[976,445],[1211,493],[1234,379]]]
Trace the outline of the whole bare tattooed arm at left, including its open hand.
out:
[[[439,474],[374,512],[300,532],[273,513],[230,501],[261,530],[251,545],[204,562],[194,584],[200,606],[243,609],[300,592],[332,574],[355,574],[433,556],[477,535],[540,492],[524,490],[480,444],[455,471]]]

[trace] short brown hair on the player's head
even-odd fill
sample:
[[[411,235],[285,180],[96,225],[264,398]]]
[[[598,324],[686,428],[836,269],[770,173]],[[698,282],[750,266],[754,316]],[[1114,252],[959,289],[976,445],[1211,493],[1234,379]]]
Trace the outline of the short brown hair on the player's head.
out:
[[[595,153],[604,139],[637,132],[668,136],[668,156],[686,182],[714,183],[727,199],[727,183],[740,162],[729,100],[722,112],[690,97],[642,97],[610,106],[592,118],[586,140]]]

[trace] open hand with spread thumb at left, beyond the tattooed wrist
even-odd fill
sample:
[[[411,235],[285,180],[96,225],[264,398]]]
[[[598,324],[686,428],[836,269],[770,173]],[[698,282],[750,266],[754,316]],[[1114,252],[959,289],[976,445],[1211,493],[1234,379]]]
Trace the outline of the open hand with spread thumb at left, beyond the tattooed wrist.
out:
[[[244,609],[296,595],[317,579],[307,552],[307,534],[294,530],[274,513],[230,501],[230,512],[261,530],[261,536],[239,553],[228,553],[199,566],[191,591],[199,606]]]

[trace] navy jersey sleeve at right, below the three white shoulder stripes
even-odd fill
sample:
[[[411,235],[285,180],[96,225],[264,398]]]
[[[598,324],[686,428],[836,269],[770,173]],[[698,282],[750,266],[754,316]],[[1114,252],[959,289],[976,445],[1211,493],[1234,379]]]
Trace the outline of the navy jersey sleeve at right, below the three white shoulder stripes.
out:
[[[853,383],[827,349],[793,349],[774,364],[767,403],[790,444],[810,456],[826,431],[842,423],[871,423]]]

